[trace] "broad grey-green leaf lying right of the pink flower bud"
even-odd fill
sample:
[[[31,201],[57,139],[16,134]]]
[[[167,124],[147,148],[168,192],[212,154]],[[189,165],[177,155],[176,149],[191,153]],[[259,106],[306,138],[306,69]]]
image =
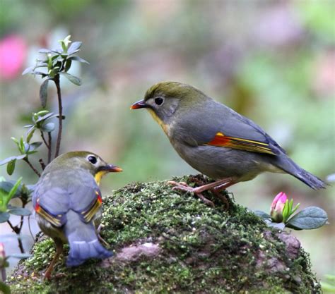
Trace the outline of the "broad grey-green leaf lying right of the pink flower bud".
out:
[[[286,226],[295,230],[310,230],[327,223],[327,213],[319,207],[307,207],[288,220]]]

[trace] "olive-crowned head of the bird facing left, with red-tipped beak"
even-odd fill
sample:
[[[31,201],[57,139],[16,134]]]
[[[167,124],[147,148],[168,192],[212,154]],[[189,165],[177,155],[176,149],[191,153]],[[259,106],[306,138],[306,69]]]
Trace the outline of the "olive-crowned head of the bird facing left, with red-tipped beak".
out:
[[[150,87],[144,99],[131,105],[131,109],[146,108],[165,130],[171,118],[182,111],[189,111],[191,106],[208,99],[206,94],[180,82],[158,82]]]

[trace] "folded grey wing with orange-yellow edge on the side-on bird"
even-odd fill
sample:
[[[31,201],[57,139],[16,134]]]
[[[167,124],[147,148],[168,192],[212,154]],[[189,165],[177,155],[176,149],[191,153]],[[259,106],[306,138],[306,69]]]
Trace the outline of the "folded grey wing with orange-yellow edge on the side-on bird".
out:
[[[211,100],[202,107],[201,114],[189,113],[182,118],[180,133],[189,145],[212,145],[272,155],[285,152],[259,125],[227,106]]]

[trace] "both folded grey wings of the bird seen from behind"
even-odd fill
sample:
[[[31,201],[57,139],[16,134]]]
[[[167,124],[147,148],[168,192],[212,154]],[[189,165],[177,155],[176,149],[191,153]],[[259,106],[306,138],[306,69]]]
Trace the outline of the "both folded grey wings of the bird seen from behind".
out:
[[[81,173],[69,185],[56,185],[57,180],[51,177],[47,182],[37,183],[33,195],[36,213],[57,227],[66,223],[66,212],[69,209],[77,212],[82,221],[90,222],[102,204],[101,193],[93,176]]]

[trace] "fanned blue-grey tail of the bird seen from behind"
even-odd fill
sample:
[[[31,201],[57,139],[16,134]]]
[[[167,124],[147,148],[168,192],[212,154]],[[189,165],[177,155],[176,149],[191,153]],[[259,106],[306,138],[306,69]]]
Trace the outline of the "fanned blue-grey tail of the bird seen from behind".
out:
[[[70,245],[66,266],[76,267],[88,258],[104,259],[112,256],[112,252],[100,244],[93,223],[83,223],[73,211],[69,211],[66,216],[65,234]]]

